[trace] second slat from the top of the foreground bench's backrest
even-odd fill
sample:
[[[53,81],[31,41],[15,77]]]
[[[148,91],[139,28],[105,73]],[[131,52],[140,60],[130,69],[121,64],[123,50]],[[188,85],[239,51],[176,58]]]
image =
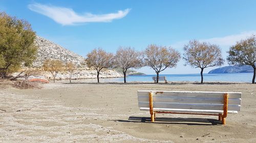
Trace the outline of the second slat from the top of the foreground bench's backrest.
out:
[[[138,96],[139,102],[148,102],[148,96]],[[223,104],[223,98],[204,98],[204,97],[158,97],[153,96],[154,102],[178,102],[178,103],[209,103]],[[228,104],[241,105],[241,98],[229,98]]]

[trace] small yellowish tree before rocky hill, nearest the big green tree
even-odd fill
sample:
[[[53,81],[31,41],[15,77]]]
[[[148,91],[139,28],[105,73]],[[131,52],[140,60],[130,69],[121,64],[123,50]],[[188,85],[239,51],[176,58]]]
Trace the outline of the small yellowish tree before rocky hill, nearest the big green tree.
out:
[[[45,71],[48,71],[52,74],[53,82],[55,83],[57,73],[63,70],[63,63],[59,60],[46,60],[42,67]]]

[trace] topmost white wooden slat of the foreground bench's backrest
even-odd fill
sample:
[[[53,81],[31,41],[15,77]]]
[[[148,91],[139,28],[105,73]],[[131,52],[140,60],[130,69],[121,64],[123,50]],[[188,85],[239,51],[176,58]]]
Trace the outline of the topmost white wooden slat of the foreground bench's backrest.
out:
[[[138,91],[138,96],[148,96],[148,92],[154,92],[154,96],[173,96],[173,97],[209,97],[223,98],[227,93],[229,98],[241,98],[240,92],[188,92],[188,91]]]

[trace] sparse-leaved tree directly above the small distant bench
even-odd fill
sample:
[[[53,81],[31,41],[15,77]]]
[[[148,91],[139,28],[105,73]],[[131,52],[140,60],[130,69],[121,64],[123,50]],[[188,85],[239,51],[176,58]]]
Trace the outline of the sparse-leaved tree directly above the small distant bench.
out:
[[[144,51],[144,65],[153,68],[157,74],[157,83],[159,73],[166,68],[177,66],[180,60],[180,53],[172,47],[148,45]]]

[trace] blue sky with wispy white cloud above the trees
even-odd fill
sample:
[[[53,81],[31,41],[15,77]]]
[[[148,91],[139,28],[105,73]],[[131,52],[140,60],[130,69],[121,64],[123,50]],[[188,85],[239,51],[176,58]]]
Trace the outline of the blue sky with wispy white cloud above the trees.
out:
[[[0,11],[26,19],[38,36],[84,57],[102,47],[143,50],[149,44],[172,46],[183,53],[189,40],[229,46],[256,34],[256,1],[12,1],[0,0]],[[199,73],[183,66],[162,74]],[[224,66],[226,66],[225,64]],[[215,67],[214,67],[215,68]],[[214,68],[205,69],[204,73]],[[144,67],[138,71],[155,74]]]

